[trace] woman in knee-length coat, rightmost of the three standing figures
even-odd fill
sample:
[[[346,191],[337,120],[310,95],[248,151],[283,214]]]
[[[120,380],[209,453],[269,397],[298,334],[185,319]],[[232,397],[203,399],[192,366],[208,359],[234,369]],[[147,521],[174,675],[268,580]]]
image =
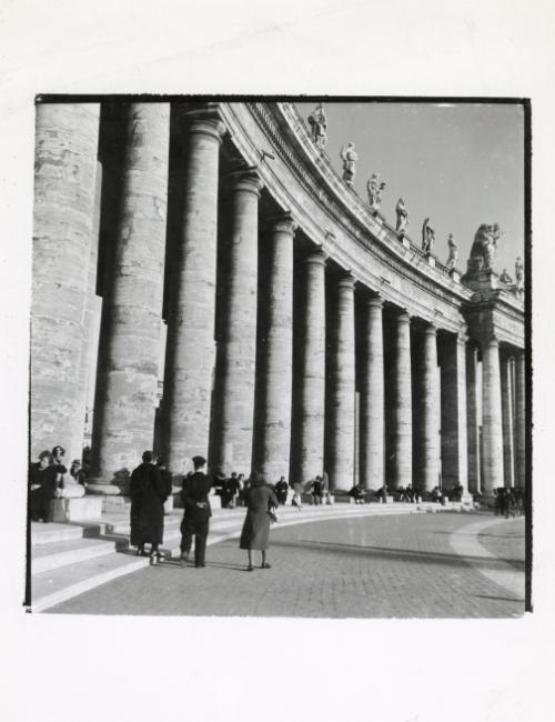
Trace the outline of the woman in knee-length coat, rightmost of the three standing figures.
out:
[[[266,550],[270,538],[270,512],[278,508],[278,498],[270,487],[266,487],[260,478],[252,480],[251,485],[245,491],[244,501],[246,505],[246,517],[241,531],[240,549],[246,549],[249,554],[250,572],[253,571],[252,550],[258,549],[262,552],[261,569],[270,569],[266,561]]]

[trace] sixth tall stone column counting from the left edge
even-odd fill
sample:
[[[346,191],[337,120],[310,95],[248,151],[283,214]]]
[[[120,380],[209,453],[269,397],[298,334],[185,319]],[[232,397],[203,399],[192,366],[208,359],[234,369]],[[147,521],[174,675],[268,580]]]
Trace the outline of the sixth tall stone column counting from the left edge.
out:
[[[309,481],[324,469],[325,420],[325,260],[316,250],[305,261],[305,295],[301,309],[297,421],[293,435],[291,479]]]

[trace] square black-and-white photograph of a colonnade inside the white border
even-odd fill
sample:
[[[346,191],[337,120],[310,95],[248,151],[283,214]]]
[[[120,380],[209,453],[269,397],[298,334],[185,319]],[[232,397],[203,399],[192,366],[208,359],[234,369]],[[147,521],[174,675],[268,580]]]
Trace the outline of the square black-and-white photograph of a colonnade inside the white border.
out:
[[[31,611],[529,611],[527,116],[38,98]]]

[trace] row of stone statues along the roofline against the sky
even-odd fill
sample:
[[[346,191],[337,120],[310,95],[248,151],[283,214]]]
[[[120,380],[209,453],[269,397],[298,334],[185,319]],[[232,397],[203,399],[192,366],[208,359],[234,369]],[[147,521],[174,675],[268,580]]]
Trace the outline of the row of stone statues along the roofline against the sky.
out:
[[[311,128],[311,136],[319,149],[324,149],[327,143],[327,119],[324,112],[323,103],[317,103],[316,108],[309,116],[309,124]],[[356,173],[356,161],[359,156],[354,149],[354,143],[349,142],[341,147],[340,157],[343,161],[343,181],[349,188],[353,188],[354,178]],[[380,173],[372,173],[366,182],[366,192],[369,205],[374,214],[377,213],[382,204],[382,191],[386,183],[382,180]],[[400,198],[395,205],[396,225],[395,231],[400,238],[406,233],[408,224],[408,211],[406,210],[405,201]],[[497,250],[497,242],[501,238],[501,229],[498,223],[482,223],[474,237],[474,243],[471,250],[470,265],[473,271],[492,271],[495,252]],[[424,219],[422,225],[422,250],[425,253],[431,253],[435,243],[435,231],[430,224],[430,218]],[[447,268],[454,269],[458,260],[458,248],[453,239],[453,233],[450,233],[447,240],[448,257],[446,261]],[[515,262],[515,279],[516,288],[524,285],[524,263],[521,257]],[[500,281],[504,284],[512,284],[513,280],[503,269],[500,275]]]

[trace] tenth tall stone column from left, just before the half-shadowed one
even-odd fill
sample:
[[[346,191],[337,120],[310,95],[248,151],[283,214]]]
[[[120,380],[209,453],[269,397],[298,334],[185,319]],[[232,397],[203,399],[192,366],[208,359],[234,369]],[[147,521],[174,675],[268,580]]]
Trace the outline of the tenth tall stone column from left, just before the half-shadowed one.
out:
[[[418,399],[414,400],[420,411],[416,429],[418,484],[423,492],[431,492],[440,474],[440,408],[437,394],[437,330],[428,324],[421,338],[418,375],[416,379]]]

